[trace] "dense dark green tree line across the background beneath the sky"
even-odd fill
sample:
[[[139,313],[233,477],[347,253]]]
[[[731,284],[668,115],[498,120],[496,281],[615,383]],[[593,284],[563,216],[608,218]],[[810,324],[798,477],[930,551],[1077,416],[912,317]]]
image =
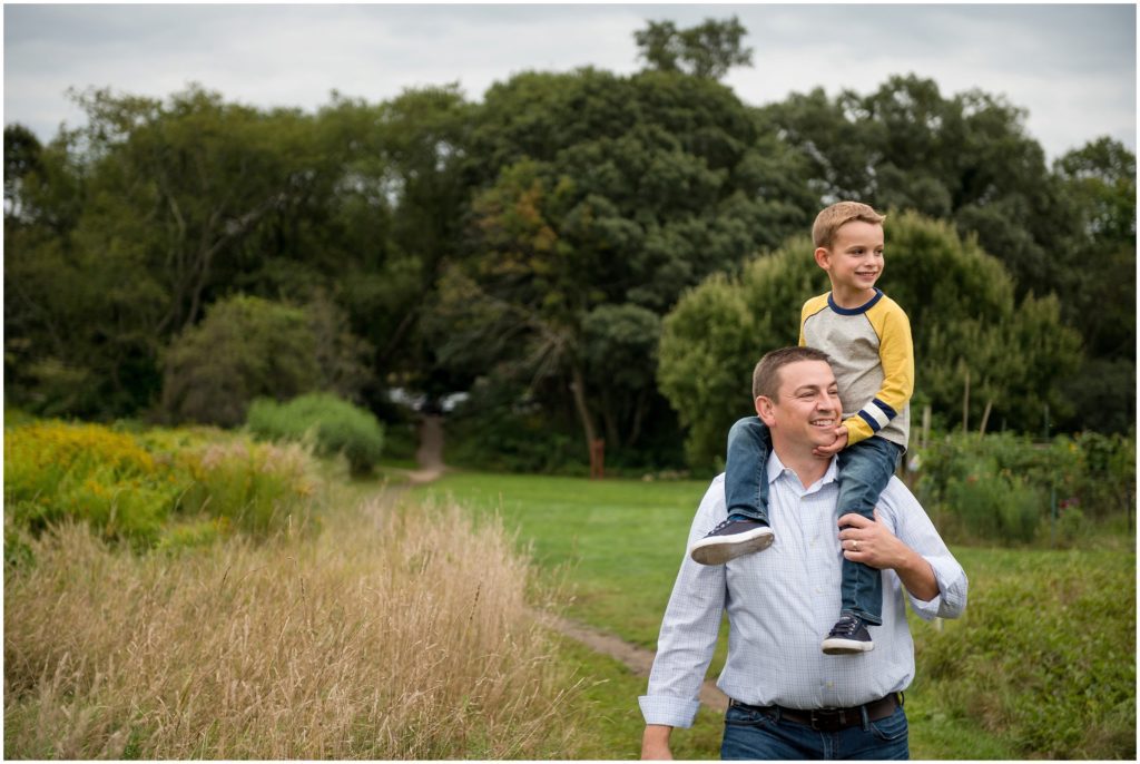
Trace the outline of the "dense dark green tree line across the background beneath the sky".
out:
[[[309,389],[382,412],[393,387],[521,385],[552,432],[604,438],[630,464],[671,458],[677,415],[654,377],[627,373],[658,363],[657,325],[844,197],[976,237],[1011,278],[1007,343],[1054,315],[1081,333],[1083,364],[1025,365],[1015,384],[983,380],[979,364],[1008,359],[971,349],[931,369],[935,398],[974,367],[971,384],[992,388],[974,408],[993,392],[996,417],[1041,421],[1056,379],[1056,429],[1125,432],[1132,152],[1097,138],[1050,169],[1023,109],[914,75],[750,107],[717,81],[750,62],[744,33],[735,18],[650,22],[635,35],[645,71],[522,72],[478,103],[455,84],[382,103],[334,91],[316,112],[197,84],[163,99],[75,91],[80,128],[5,130],[6,391],[40,416],[149,416],[169,349],[250,295],[306,307]],[[947,357],[975,346],[947,331],[930,336]],[[1072,336],[1042,339],[1065,355]]]

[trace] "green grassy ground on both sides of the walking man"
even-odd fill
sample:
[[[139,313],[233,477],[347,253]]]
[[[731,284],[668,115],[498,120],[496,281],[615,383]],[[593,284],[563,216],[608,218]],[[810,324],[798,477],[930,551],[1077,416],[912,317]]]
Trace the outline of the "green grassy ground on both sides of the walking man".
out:
[[[449,473],[414,494],[498,514],[552,577],[567,615],[652,649],[707,483]],[[907,692],[915,758],[1134,758],[1135,554],[953,547],[970,577],[966,616],[913,619]],[[1121,551],[1121,548],[1126,551]],[[719,670],[724,644],[710,674]],[[634,756],[645,680],[571,650],[593,685],[598,758]],[[716,758],[719,716],[674,734],[677,755]]]

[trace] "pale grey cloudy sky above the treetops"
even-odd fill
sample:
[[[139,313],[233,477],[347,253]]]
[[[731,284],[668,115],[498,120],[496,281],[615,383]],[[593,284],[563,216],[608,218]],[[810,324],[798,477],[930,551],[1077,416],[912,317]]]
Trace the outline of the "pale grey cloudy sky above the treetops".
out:
[[[82,114],[65,91],[165,97],[189,82],[258,106],[314,109],[334,89],[378,101],[458,82],[480,99],[524,70],[640,68],[634,31],[736,15],[748,104],[890,74],[972,88],[1028,111],[1049,159],[1108,135],[1135,151],[1132,5],[13,5],[3,7],[3,121],[47,139]]]

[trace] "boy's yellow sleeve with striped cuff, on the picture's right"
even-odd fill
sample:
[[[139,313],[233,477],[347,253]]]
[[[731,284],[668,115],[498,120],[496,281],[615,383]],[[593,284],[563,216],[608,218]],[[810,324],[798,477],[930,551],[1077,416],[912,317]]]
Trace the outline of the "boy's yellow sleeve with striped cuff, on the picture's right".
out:
[[[878,308],[879,306],[876,306]],[[903,411],[914,395],[914,343],[911,322],[895,303],[887,303],[881,311],[872,308],[868,314],[879,334],[879,359],[882,361],[882,387],[860,412],[844,421],[847,445],[866,440]]]

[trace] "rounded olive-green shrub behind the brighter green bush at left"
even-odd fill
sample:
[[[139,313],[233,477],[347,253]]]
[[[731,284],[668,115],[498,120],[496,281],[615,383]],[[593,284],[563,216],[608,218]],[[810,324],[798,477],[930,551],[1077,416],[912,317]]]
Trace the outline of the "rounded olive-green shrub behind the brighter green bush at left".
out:
[[[316,339],[298,308],[235,296],[179,335],[164,363],[163,407],[174,421],[236,426],[259,396],[318,385]]]

